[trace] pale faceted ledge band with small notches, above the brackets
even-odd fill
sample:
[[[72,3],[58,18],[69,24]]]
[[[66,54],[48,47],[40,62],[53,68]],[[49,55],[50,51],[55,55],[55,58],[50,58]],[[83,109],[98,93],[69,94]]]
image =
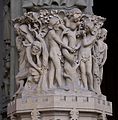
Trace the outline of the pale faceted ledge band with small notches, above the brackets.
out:
[[[17,98],[8,104],[8,116],[11,114],[31,113],[36,106],[39,112],[43,111],[71,111],[76,108],[79,112],[105,113],[112,115],[112,103],[105,96],[84,96],[77,94],[55,95],[42,94],[39,96]]]

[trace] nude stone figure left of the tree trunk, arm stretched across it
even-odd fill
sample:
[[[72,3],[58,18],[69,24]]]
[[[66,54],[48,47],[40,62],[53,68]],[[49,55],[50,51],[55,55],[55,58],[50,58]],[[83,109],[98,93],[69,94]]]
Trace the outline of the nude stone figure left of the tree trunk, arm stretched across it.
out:
[[[59,87],[61,88],[63,86],[62,83],[62,68],[61,68],[61,47],[64,47],[68,49],[69,51],[73,52],[73,49],[69,46],[66,46],[60,39],[59,36],[59,25],[60,21],[57,17],[51,18],[49,25],[52,27],[52,29],[49,30],[47,34],[48,43],[49,43],[49,55],[51,59],[51,68],[55,69],[55,78],[57,80],[57,83]],[[49,75],[49,87],[53,88],[53,80],[54,80],[54,69],[50,70]]]

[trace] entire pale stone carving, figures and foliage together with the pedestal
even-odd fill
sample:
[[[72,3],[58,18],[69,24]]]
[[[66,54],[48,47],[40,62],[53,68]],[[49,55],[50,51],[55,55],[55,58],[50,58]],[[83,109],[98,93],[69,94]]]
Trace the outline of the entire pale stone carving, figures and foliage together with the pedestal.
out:
[[[65,1],[24,2],[28,9]],[[106,120],[112,115],[100,88],[108,49],[105,20],[79,8],[37,9],[13,19],[19,65],[17,90],[8,104],[11,120]]]

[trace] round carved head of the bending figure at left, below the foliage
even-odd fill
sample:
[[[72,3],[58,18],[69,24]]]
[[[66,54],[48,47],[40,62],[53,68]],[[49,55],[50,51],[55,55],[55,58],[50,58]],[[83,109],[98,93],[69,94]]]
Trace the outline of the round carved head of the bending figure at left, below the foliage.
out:
[[[39,41],[34,41],[31,46],[32,55],[41,54],[41,43]]]

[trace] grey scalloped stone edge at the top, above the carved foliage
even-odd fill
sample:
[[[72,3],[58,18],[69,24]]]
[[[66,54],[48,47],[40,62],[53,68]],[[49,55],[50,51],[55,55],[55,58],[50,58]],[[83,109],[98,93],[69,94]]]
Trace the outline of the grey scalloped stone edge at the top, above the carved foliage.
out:
[[[56,6],[66,6],[66,7],[72,7],[72,6],[83,6],[87,7],[93,5],[93,0],[23,0],[23,7],[28,8],[32,7],[33,5],[39,5],[39,6],[50,6],[50,5],[56,5]]]

